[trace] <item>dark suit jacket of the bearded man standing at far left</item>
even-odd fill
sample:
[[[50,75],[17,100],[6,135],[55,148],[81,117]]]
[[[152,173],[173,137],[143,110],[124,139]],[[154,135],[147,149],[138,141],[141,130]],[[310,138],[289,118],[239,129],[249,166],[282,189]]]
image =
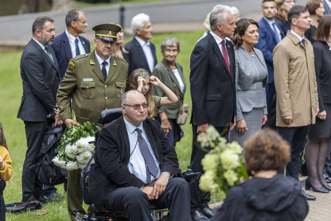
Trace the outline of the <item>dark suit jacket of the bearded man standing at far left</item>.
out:
[[[60,73],[55,52],[48,47],[54,63],[45,51],[31,39],[21,57],[23,96],[17,117],[24,121],[46,121],[47,114],[55,115],[56,93]]]

